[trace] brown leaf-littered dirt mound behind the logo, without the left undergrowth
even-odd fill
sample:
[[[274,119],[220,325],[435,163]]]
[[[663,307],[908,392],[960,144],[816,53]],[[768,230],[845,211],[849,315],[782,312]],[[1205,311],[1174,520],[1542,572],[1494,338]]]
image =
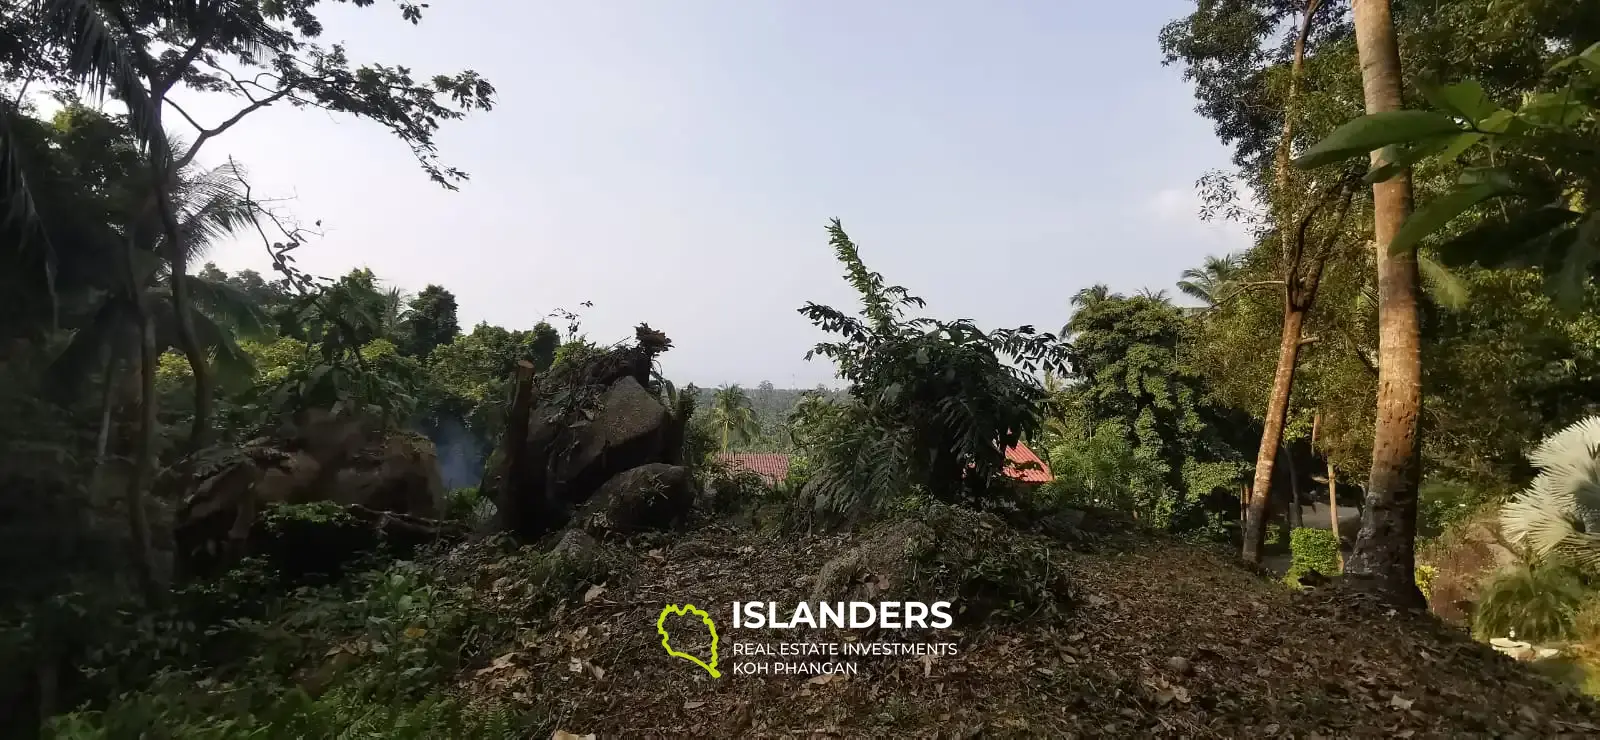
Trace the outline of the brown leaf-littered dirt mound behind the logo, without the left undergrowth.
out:
[[[939,530],[938,517],[917,524],[872,535],[782,538],[710,524],[600,545],[597,557],[608,565],[568,575],[566,601],[541,610],[544,617],[530,620],[514,644],[464,671],[458,690],[474,702],[525,710],[539,721],[534,737],[555,730],[597,737],[1600,732],[1594,703],[1429,615],[1336,593],[1294,596],[1224,556],[1168,540],[1120,537],[1118,546],[1101,543],[1098,553],[1045,549],[1042,562],[1074,585],[1075,599],[1070,609],[1019,621],[877,636],[733,625],[733,602],[808,601],[824,572],[851,572],[840,583],[867,583],[859,567],[824,567],[845,554],[861,553],[858,565],[917,562],[882,549],[894,540],[890,535],[902,535],[904,548]],[[496,570],[504,573],[498,588],[517,593],[512,581],[526,570]],[[693,604],[715,621],[720,678],[662,649],[658,620],[669,604]],[[510,599],[504,609],[520,607]],[[691,645],[685,631],[699,620],[669,618],[672,645]],[[757,658],[736,655],[734,644],[808,641],[954,642],[958,652],[850,658],[856,674],[736,673],[741,662]]]

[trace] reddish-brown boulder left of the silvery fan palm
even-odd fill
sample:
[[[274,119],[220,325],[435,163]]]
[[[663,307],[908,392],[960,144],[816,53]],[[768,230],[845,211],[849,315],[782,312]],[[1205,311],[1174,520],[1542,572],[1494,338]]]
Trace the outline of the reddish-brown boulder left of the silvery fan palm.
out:
[[[1522,564],[1517,549],[1499,529],[1499,506],[1483,506],[1456,522],[1418,557],[1434,567],[1429,609],[1456,625],[1467,625],[1482,585],[1501,570]]]

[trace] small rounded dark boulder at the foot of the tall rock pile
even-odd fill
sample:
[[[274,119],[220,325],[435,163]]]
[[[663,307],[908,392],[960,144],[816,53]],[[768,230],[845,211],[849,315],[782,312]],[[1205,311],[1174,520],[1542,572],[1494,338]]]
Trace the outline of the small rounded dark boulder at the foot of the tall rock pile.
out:
[[[589,532],[637,533],[669,529],[694,508],[688,468],[650,463],[618,473],[584,506],[578,522]]]

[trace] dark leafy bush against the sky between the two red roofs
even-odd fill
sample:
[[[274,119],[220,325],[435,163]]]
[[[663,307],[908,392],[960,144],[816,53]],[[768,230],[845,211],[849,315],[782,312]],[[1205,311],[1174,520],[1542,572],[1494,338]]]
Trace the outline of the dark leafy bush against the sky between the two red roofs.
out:
[[[986,333],[968,320],[907,319],[923,301],[869,271],[837,219],[829,235],[862,311],[800,309],[838,336],[806,357],[834,360],[850,383],[838,434],[806,450],[821,493],[851,514],[914,487],[941,501],[987,497],[1005,448],[1038,432],[1045,394],[1034,373],[1064,370],[1067,348],[1034,327]]]

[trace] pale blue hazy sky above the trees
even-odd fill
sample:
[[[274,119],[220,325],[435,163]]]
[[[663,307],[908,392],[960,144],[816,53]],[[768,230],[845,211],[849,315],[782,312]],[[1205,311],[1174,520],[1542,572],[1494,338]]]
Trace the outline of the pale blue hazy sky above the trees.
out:
[[[352,61],[498,88],[437,138],[472,179],[445,191],[381,127],[293,107],[250,115],[200,162],[232,155],[258,195],[322,221],[301,267],[443,285],[464,330],[565,308],[600,343],[666,332],[680,384],[835,384],[805,360],[826,335],[797,312],[856,306],[830,218],[928,316],[986,328],[1053,332],[1083,287],[1171,292],[1246,247],[1197,216],[1195,179],[1229,157],[1160,64],[1157,34],[1186,6],[458,0],[411,26],[386,3],[323,5],[323,42]],[[208,125],[238,106],[174,98]],[[270,269],[254,235],[206,259]]]

